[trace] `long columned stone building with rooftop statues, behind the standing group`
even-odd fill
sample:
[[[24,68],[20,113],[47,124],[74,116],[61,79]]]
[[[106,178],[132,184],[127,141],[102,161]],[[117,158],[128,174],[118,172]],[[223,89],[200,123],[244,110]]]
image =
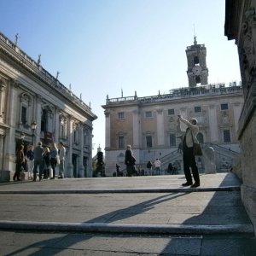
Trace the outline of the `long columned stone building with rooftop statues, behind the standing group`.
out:
[[[15,149],[64,143],[66,177],[91,177],[96,115],[38,61],[0,33],[0,180],[15,171]]]

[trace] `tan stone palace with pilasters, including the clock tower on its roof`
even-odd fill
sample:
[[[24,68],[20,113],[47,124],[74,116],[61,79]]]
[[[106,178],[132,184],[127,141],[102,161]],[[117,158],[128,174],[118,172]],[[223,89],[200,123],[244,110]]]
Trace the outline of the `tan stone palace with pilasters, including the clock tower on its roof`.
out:
[[[198,49],[198,50],[195,50]],[[189,87],[170,90],[156,96],[122,96],[108,98],[105,109],[105,173],[112,176],[116,163],[125,169],[127,144],[131,144],[137,166],[146,168],[148,160],[160,159],[162,168],[175,163],[182,172],[181,142],[177,137],[177,114],[199,121],[199,141],[215,150],[217,171],[226,172],[235,164],[240,152],[236,137],[243,106],[241,85],[207,84],[206,47],[194,44],[186,50]],[[195,86],[196,85],[196,86]],[[205,171],[204,158],[198,159]]]

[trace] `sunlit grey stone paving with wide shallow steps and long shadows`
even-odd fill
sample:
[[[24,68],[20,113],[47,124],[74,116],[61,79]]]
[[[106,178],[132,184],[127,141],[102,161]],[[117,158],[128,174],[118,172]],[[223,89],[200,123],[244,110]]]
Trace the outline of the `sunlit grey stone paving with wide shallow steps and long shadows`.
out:
[[[0,184],[1,255],[256,255],[232,173]]]

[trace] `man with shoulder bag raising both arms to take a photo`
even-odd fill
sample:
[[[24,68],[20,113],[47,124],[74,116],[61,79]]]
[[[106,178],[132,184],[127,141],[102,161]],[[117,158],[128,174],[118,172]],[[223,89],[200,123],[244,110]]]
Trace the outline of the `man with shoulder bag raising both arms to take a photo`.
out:
[[[200,186],[200,177],[195,162],[195,154],[193,153],[193,142],[198,143],[196,136],[198,134],[199,127],[197,125],[196,119],[187,120],[183,119],[183,117],[181,117],[180,115],[178,115],[177,117],[177,131],[183,134],[183,169],[187,181],[182,185],[183,187],[191,185],[191,188],[196,188]],[[181,122],[188,126],[185,132],[181,131]],[[192,182],[190,168],[195,183]]]

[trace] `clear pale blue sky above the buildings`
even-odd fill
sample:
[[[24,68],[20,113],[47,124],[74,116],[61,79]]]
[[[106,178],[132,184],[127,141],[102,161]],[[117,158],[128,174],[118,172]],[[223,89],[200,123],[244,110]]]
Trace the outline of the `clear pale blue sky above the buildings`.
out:
[[[0,32],[90,106],[93,155],[105,147],[102,105],[187,87],[185,49],[207,47],[208,83],[240,82],[224,36],[224,0],[0,0]],[[104,153],[104,151],[103,151]]]

